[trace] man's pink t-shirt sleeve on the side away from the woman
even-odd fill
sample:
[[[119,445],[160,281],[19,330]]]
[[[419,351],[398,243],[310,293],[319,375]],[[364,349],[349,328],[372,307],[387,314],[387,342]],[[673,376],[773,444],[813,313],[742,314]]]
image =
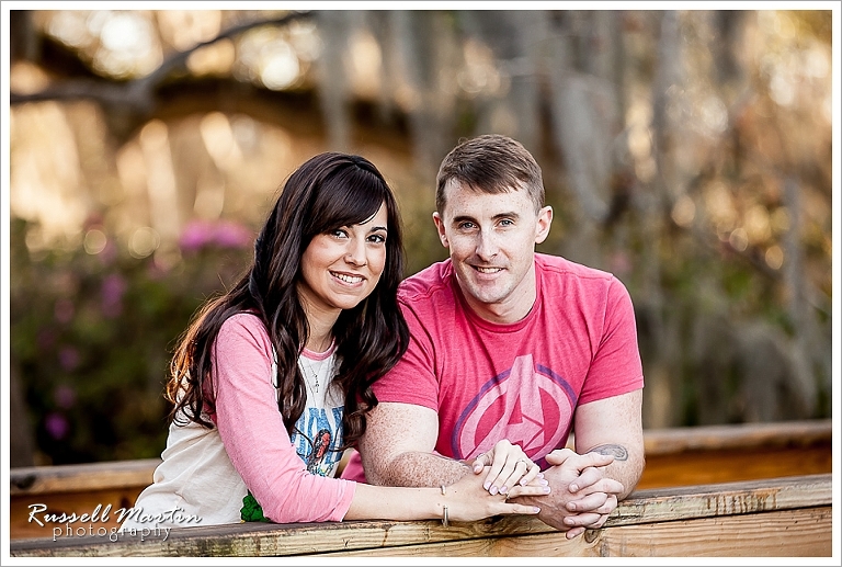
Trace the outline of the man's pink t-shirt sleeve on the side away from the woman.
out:
[[[627,394],[644,387],[632,297],[612,277],[605,302],[602,336],[584,381],[579,404]]]

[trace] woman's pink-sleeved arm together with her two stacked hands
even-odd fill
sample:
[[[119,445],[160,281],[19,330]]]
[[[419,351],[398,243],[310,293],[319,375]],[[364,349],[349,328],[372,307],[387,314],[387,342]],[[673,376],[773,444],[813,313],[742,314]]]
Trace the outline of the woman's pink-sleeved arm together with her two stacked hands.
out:
[[[508,502],[508,497],[541,496],[546,483],[524,463],[520,447],[501,443],[475,464],[475,474],[445,488],[375,487],[351,480],[326,478],[307,472],[286,434],[273,402],[270,355],[265,329],[251,316],[235,316],[223,326],[214,352],[216,364],[216,419],[219,435],[231,462],[263,508],[277,523],[383,519],[425,520],[448,517],[470,521],[504,513],[537,513],[528,504]],[[528,465],[531,463],[527,463]],[[505,495],[491,495],[483,483],[533,481]]]

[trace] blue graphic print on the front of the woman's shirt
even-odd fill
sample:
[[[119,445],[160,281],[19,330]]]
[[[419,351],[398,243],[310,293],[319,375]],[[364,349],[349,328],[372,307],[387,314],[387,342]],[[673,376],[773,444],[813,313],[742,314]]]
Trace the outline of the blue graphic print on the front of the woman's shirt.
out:
[[[334,451],[342,444],[339,433],[344,408],[306,408],[296,422],[293,443],[296,453],[307,465],[307,472],[314,475],[332,476],[333,468],[342,458],[341,451]],[[331,411],[332,420],[328,417]],[[303,431],[307,436],[299,433]],[[307,439],[309,438],[309,439]]]

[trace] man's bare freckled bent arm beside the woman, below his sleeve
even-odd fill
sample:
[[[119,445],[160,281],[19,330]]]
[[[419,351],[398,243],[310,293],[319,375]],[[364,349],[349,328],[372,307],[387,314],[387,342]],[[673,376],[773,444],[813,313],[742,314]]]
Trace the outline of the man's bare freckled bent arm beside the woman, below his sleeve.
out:
[[[380,402],[367,417],[360,456],[368,483],[382,486],[440,486],[471,472],[434,453],[439,416],[413,404]]]

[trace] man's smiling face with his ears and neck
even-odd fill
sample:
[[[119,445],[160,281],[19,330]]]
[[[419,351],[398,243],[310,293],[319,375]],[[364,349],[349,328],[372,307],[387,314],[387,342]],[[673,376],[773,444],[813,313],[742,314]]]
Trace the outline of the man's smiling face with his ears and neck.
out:
[[[522,319],[535,302],[535,245],[547,237],[553,209],[536,214],[525,189],[489,194],[451,180],[444,191],[433,222],[468,304],[490,321]]]

